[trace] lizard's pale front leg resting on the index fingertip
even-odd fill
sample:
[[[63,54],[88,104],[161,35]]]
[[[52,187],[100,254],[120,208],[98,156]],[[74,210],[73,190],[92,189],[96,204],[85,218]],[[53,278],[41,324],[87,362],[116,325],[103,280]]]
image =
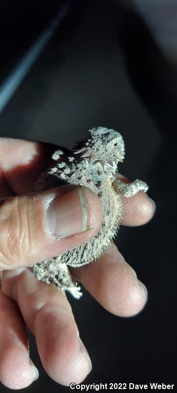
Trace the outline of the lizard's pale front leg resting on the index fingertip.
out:
[[[124,183],[118,179],[114,180],[112,183],[117,194],[122,195],[123,197],[129,198],[133,197],[139,191],[144,191],[145,193],[148,191],[148,184],[142,180],[134,180],[131,183]]]

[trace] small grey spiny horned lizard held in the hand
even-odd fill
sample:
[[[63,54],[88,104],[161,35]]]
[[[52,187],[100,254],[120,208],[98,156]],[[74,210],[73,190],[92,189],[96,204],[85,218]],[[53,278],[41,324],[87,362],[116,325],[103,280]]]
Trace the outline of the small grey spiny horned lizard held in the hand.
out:
[[[122,217],[121,195],[132,197],[140,190],[148,190],[148,185],[142,180],[124,183],[116,178],[118,162],[124,158],[124,142],[118,132],[103,127],[89,132],[89,139],[73,149],[59,149],[53,154],[54,166],[41,175],[35,187],[36,190],[45,190],[61,184],[79,184],[89,187],[102,202],[102,226],[92,240],[33,266],[33,274],[38,280],[67,290],[76,299],[82,296],[81,288],[71,276],[68,266],[78,267],[93,262],[108,248]]]

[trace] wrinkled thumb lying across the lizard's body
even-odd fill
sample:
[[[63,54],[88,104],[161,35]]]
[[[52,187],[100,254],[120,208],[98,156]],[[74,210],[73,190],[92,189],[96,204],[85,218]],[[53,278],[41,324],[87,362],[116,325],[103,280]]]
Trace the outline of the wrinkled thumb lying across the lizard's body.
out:
[[[99,198],[86,187],[0,199],[0,270],[30,266],[87,243],[102,218]]]

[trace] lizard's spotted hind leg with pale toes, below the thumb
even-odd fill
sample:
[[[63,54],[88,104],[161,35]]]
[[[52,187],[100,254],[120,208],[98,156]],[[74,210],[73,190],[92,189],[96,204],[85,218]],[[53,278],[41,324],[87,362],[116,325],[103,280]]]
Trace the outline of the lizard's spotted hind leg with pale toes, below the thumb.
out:
[[[75,299],[80,299],[82,296],[81,287],[77,286],[77,281],[71,276],[66,263],[57,263],[56,259],[55,268],[51,269],[45,266],[46,262],[48,261],[33,266],[33,274],[37,280],[51,283],[59,289],[68,291]]]

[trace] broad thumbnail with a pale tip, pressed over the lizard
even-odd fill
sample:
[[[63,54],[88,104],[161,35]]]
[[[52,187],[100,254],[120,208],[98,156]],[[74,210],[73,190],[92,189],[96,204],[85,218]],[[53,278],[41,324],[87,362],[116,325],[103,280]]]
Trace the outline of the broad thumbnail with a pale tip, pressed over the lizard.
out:
[[[89,229],[91,217],[88,217],[87,193],[77,188],[50,203],[47,223],[52,235],[63,238]]]

